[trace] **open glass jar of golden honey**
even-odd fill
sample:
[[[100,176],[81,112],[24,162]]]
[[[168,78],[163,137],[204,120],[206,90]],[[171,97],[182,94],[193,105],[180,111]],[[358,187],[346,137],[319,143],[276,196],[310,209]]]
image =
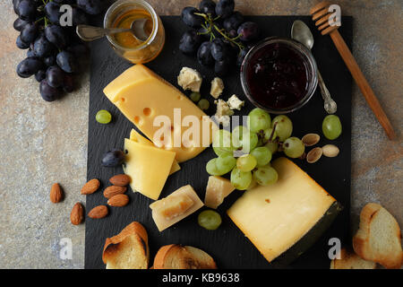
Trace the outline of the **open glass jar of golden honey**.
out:
[[[112,4],[104,19],[104,28],[130,29],[133,21],[147,19],[144,31],[150,35],[145,41],[136,39],[131,32],[107,36],[116,54],[133,64],[147,63],[159,56],[165,43],[165,30],[154,9],[143,0],[119,0]]]

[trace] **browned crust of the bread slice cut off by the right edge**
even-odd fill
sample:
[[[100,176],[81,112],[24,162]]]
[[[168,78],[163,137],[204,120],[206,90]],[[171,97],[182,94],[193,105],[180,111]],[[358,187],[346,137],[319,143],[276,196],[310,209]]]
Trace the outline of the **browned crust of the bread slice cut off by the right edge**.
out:
[[[388,269],[399,269],[402,265],[403,252],[401,251],[401,232],[399,223],[394,220],[394,230],[396,230],[396,238],[399,240],[400,254],[390,257],[389,254],[373,254],[370,245],[371,223],[373,219],[382,210],[382,205],[369,203],[364,206],[360,214],[360,224],[356,235],[353,237],[353,248],[359,257],[365,260],[373,261],[381,264]],[[387,211],[386,211],[387,212]]]

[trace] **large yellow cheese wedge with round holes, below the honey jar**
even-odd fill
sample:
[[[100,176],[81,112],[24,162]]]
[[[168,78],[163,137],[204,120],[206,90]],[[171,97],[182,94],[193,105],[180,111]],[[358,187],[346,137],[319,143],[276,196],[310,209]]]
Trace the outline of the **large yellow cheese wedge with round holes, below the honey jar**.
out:
[[[154,144],[175,151],[176,160],[179,162],[192,159],[212,141],[212,130],[217,126],[210,117],[181,91],[144,65],[130,67],[109,83],[104,93]],[[159,116],[167,116],[165,118],[169,120],[169,125],[166,122],[164,125],[161,122],[154,123],[155,119],[162,120]],[[205,122],[206,128],[197,128],[197,132],[194,131],[194,135],[190,135],[193,134],[195,124],[181,121],[187,116],[194,116],[194,122],[198,126],[202,127]],[[159,135],[162,131],[171,135],[170,140],[168,136]]]

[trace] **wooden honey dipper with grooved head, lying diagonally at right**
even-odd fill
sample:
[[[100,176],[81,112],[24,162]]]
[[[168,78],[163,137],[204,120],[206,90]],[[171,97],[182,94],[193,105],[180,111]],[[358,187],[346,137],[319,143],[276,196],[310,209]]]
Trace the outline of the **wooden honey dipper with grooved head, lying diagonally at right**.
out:
[[[322,32],[322,35],[330,35],[330,38],[333,40],[334,45],[339,51],[340,56],[343,58],[344,62],[347,65],[348,70],[353,75],[356,84],[360,88],[361,92],[364,94],[364,98],[370,108],[373,110],[375,117],[378,118],[381,126],[388,135],[390,140],[396,138],[396,134],[393,130],[393,127],[390,125],[390,121],[386,116],[385,112],[382,109],[382,106],[378,99],[376,99],[375,94],[373,93],[373,89],[371,89],[369,83],[366,81],[363,72],[361,72],[360,67],[356,64],[356,59],[351,54],[349,48],[347,47],[346,42],[341,37],[339,33],[338,25],[330,25],[330,16],[331,12],[329,12],[330,3],[328,1],[323,1],[320,4],[316,4],[311,9],[310,13],[313,15],[313,21],[315,25],[318,27],[318,30]]]

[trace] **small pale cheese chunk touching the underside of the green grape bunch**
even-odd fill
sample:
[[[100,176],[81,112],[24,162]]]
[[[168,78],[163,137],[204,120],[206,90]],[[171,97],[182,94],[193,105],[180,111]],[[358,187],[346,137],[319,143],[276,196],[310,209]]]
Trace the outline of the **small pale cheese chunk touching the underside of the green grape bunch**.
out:
[[[217,208],[222,204],[224,198],[229,196],[235,187],[227,178],[210,176],[206,187],[206,196],[204,204],[210,208]]]

